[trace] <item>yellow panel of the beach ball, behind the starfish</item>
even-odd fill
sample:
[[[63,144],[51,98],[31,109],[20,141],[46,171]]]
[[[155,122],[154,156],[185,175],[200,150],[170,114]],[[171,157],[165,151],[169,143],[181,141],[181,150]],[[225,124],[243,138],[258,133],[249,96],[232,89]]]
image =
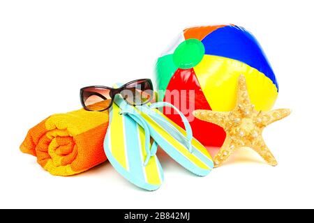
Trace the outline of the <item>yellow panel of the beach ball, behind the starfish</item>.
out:
[[[233,59],[204,55],[194,71],[213,111],[227,112],[234,109],[239,75],[246,77],[248,95],[257,111],[269,111],[278,95],[271,79],[246,63]]]

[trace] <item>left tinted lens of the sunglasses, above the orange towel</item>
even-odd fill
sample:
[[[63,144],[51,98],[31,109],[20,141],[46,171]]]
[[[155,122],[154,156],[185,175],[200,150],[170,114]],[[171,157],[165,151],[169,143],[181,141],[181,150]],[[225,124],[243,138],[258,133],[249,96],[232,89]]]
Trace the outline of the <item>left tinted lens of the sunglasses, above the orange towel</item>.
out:
[[[82,92],[82,102],[90,111],[102,111],[111,104],[110,89],[90,87]]]

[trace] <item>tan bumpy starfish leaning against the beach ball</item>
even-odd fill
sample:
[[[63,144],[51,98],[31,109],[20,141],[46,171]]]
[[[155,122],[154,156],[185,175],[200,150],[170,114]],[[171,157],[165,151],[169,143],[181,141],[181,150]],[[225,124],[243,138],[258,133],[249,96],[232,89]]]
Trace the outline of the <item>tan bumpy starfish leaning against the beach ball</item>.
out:
[[[240,75],[238,79],[237,104],[232,112],[202,109],[193,112],[196,118],[219,125],[226,132],[223,146],[214,157],[215,167],[219,167],[234,151],[244,146],[253,148],[268,164],[276,166],[277,161],[265,144],[262,131],[267,125],[290,113],[290,109],[256,111],[250,102],[244,75]]]

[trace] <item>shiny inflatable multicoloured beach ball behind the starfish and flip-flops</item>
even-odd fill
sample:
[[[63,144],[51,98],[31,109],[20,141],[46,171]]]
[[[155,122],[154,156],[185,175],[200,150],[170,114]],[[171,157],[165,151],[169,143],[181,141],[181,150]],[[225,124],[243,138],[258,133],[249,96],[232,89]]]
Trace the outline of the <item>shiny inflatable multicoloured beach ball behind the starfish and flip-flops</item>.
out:
[[[246,77],[255,109],[271,109],[278,95],[277,80],[262,47],[249,31],[235,25],[186,29],[156,63],[158,100],[178,107],[202,144],[221,146],[225,139],[223,129],[193,119],[192,112],[234,109],[241,74]],[[184,127],[174,111],[164,109],[164,113]]]

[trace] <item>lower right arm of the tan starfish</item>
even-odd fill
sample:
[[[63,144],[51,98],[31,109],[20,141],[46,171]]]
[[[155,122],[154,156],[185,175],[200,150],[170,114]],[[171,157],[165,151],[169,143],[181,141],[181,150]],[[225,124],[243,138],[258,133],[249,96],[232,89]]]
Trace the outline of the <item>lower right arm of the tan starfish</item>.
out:
[[[277,165],[277,161],[274,155],[265,144],[262,136],[257,137],[257,139],[253,141],[252,148],[267,162],[267,164],[270,164],[273,167]]]

